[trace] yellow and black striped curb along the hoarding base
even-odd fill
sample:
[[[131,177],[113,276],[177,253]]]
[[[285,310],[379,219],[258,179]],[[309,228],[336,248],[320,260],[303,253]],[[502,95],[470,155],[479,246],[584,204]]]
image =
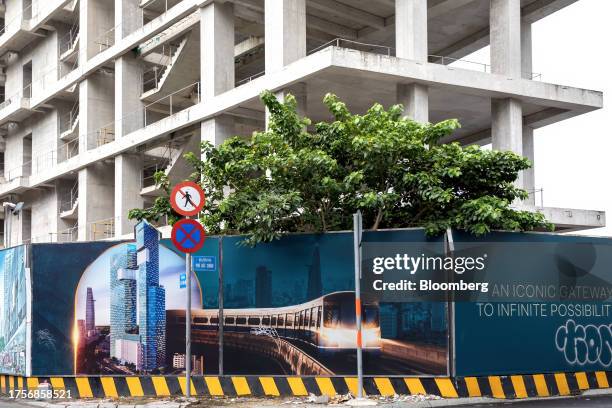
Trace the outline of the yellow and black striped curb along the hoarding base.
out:
[[[185,394],[185,378],[141,377],[15,377],[0,375],[0,391],[34,390],[43,382],[54,390],[70,391],[71,398],[172,396]],[[577,372],[489,377],[416,378],[366,377],[367,395],[433,394],[445,398],[526,398],[579,394],[609,388],[612,372]],[[191,394],[197,396],[307,396],[357,393],[355,377],[195,376]]]

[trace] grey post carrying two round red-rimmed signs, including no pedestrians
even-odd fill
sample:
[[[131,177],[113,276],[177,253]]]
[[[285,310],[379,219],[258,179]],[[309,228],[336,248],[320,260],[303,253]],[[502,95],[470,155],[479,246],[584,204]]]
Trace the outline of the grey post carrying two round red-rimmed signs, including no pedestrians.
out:
[[[170,193],[170,205],[185,219],[172,226],[172,243],[181,252],[185,252],[185,289],[187,304],[185,306],[185,395],[191,397],[191,272],[193,269],[191,254],[204,245],[206,232],[202,225],[189,217],[197,215],[204,207],[205,197],[202,188],[192,181],[177,184]],[[182,284],[182,277],[181,277]]]

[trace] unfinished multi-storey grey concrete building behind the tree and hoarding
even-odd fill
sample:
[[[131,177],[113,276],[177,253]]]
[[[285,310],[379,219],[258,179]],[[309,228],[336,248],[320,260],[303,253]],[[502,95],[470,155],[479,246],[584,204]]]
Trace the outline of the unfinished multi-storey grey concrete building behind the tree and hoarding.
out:
[[[601,92],[532,73],[531,24],[575,0],[5,0],[5,245],[132,233],[131,208],[184,179],[201,140],[265,129],[259,93],[297,96],[313,121],[334,92],[355,112],[401,102],[458,118],[454,140],[533,160],[533,130],[602,107]],[[464,61],[487,45],[490,64]],[[537,166],[538,163],[536,162]],[[533,171],[518,181],[535,190]],[[591,209],[541,208],[562,230]]]

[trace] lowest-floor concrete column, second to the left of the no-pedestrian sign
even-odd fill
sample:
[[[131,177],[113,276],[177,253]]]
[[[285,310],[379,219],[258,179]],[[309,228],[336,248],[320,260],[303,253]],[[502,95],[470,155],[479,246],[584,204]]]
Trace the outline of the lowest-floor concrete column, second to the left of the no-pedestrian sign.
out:
[[[101,221],[110,221],[115,213],[114,181],[112,165],[96,163],[79,170],[79,241],[104,237]]]

